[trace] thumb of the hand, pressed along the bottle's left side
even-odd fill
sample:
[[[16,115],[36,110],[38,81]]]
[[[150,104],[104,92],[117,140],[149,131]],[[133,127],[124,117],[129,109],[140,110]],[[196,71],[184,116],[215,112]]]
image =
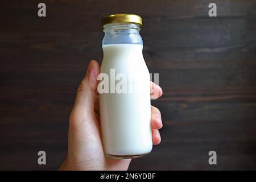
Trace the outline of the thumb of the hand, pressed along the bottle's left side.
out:
[[[96,100],[97,76],[100,72],[100,65],[92,60],[88,65],[85,77],[82,79],[77,89],[76,101],[72,110],[80,119],[87,119],[94,114],[94,103]],[[77,118],[79,119],[79,118]]]

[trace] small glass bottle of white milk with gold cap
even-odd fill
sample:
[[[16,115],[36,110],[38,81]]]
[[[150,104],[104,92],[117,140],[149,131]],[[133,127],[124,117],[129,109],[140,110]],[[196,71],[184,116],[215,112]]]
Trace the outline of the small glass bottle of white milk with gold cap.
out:
[[[142,19],[114,14],[102,19],[102,26],[98,92],[104,152],[110,158],[138,158],[152,150],[150,73],[139,35]]]

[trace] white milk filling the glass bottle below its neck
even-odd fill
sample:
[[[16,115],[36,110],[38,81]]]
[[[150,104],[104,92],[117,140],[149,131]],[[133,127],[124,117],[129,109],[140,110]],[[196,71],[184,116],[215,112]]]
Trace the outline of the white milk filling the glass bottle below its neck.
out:
[[[152,150],[150,74],[143,59],[142,47],[141,44],[102,46],[104,59],[101,73],[108,74],[110,82],[110,69],[114,68],[115,76],[124,73],[134,83],[133,93],[100,94],[104,152],[115,158],[136,158]]]

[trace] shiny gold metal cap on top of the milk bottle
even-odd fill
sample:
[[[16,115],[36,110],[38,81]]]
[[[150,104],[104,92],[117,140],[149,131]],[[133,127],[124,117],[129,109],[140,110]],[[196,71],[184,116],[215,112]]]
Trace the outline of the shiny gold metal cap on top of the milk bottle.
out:
[[[102,19],[102,27],[108,23],[136,23],[140,27],[142,26],[142,18],[135,14],[113,14]]]

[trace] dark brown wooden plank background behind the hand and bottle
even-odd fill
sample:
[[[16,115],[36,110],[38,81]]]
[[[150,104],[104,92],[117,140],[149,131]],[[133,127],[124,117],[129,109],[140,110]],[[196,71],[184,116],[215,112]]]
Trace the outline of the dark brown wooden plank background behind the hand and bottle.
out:
[[[38,17],[38,3],[47,17]],[[143,54],[164,95],[162,143],[129,169],[256,169],[256,2],[1,1],[0,169],[58,169],[102,16],[143,18]],[[135,65],[134,65],[135,66]],[[37,152],[47,152],[39,166]],[[217,165],[208,152],[217,152]]]

